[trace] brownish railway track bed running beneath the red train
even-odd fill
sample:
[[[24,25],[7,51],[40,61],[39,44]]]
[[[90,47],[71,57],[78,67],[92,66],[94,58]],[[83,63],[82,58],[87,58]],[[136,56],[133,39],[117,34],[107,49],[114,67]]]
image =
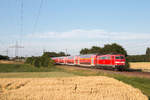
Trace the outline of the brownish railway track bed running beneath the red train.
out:
[[[81,70],[90,70],[96,72],[103,72],[103,73],[111,73],[111,74],[120,74],[125,76],[133,76],[133,77],[141,77],[141,78],[149,78],[150,79],[150,72],[142,72],[139,70],[129,70],[129,71],[112,71],[112,70],[105,70],[100,68],[89,68],[89,67],[79,67],[79,66],[68,66],[68,65],[59,65],[65,68],[73,68],[73,69],[81,69]]]

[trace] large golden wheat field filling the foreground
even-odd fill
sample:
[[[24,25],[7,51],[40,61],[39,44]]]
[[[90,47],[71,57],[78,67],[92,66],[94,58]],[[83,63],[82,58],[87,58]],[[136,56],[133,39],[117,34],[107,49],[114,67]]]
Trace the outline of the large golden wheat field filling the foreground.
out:
[[[148,100],[138,89],[104,76],[3,78],[0,100]]]

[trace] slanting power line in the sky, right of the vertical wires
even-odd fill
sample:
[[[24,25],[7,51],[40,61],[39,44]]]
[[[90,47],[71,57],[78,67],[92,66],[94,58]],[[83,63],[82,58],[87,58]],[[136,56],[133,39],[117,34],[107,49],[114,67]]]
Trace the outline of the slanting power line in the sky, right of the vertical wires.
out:
[[[40,14],[41,14],[41,10],[42,10],[42,7],[43,7],[43,2],[44,2],[44,0],[41,0],[41,2],[40,2],[40,7],[39,7],[37,17],[35,19],[35,23],[34,23],[34,26],[33,26],[33,33],[36,31],[36,28],[37,28],[37,24],[38,24],[39,17],[40,17]]]

